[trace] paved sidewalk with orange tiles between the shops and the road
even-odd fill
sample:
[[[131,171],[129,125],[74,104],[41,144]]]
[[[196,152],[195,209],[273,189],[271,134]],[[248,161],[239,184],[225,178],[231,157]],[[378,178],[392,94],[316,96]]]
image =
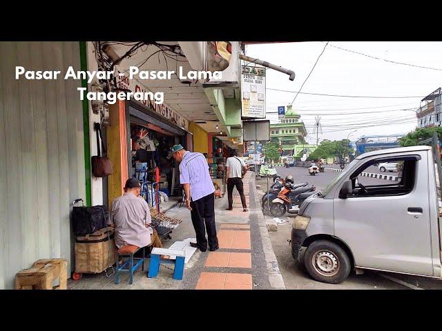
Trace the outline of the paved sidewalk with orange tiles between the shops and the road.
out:
[[[127,276],[120,278],[119,285],[113,277],[104,274],[84,275],[80,281],[69,281],[69,288],[79,289],[198,289],[198,290],[259,290],[284,288],[278,269],[265,219],[261,212],[253,172],[244,177],[244,195],[249,212],[242,211],[241,199],[233,190],[233,210],[228,207],[227,194],[215,199],[215,222],[220,249],[215,252],[197,250],[186,264],[182,281],[172,279],[173,266],[161,265],[154,279],[146,277],[149,259],[144,272],[134,274],[133,285],[128,285]],[[172,208],[166,215],[179,217],[182,224],[175,229],[172,239],[164,241],[170,247],[175,241],[194,238],[195,231],[191,213],[184,206]]]

